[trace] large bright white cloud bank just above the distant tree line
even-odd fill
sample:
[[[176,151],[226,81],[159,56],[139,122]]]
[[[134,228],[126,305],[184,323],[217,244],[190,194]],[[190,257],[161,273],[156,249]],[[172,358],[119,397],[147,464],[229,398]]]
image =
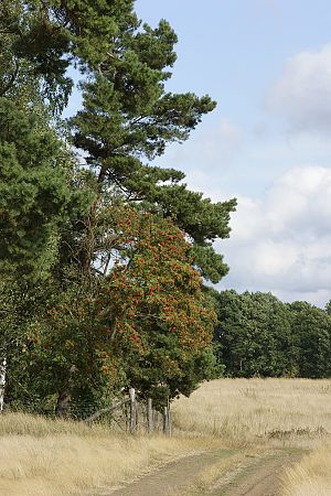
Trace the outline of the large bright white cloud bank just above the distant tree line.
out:
[[[231,238],[218,241],[231,267],[222,287],[320,305],[331,299],[330,169],[293,168],[261,198],[238,197],[231,225]]]

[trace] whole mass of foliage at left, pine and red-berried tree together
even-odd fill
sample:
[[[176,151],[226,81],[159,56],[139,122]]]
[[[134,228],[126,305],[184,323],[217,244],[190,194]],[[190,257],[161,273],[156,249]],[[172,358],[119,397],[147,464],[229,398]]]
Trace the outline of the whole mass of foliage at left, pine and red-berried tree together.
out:
[[[161,407],[215,373],[201,276],[217,282],[227,271],[212,244],[228,236],[235,201],[213,204],[182,172],[149,163],[215,107],[167,90],[175,43],[167,21],[138,20],[132,0],[1,2],[0,269],[10,289],[0,354],[11,401],[97,406],[135,386]],[[84,101],[65,126],[70,68]]]

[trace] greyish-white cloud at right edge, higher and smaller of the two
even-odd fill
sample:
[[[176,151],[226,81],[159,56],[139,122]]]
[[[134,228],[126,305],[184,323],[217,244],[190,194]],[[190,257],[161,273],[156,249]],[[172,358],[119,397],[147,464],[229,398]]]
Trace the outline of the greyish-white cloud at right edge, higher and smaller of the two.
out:
[[[268,109],[282,115],[295,131],[331,130],[331,44],[290,57],[267,98]]]

